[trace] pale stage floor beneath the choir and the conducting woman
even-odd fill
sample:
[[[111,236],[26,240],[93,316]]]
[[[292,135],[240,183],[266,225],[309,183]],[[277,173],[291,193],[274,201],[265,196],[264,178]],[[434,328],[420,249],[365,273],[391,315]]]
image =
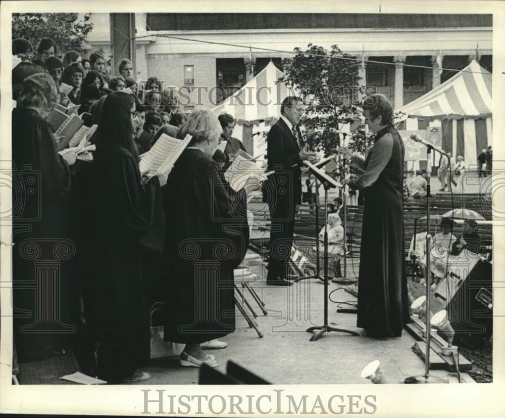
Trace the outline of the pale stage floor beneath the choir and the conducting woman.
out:
[[[267,270],[263,266],[252,266],[251,270],[258,274],[258,281],[252,286],[266,303],[268,315],[261,314],[250,296],[247,299],[259,314],[257,322],[264,337],[259,338],[243,317],[237,317],[235,333],[222,339],[228,347],[209,350],[223,373],[227,360],[232,360],[272,384],[372,384],[360,373],[366,364],[378,359],[387,383],[402,383],[409,376],[424,374],[424,362],[412,351],[415,340],[407,331],[400,338],[385,339],[331,332],[318,341],[309,341],[311,334],[306,329],[323,322],[322,282],[311,279],[291,287],[266,286]],[[329,285],[329,293],[334,291],[331,300],[356,301],[338,287]],[[330,326],[361,334],[362,330],[356,327],[356,314],[337,313],[337,304],[331,301],[328,306]],[[199,369],[179,366],[178,358],[152,360],[142,370],[148,371],[151,379],[141,384],[198,383]],[[430,374],[458,383],[456,372],[430,370]],[[462,373],[462,382],[474,381]]]

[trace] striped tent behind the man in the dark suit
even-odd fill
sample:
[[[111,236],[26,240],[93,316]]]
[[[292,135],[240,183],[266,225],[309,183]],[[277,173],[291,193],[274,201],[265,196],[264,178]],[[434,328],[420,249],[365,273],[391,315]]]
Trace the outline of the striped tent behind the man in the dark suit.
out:
[[[254,156],[266,151],[262,132],[280,117],[281,102],[293,93],[284,83],[277,83],[284,73],[272,61],[254,78],[245,83],[233,96],[213,109],[218,115],[229,113],[237,124],[233,136],[242,140],[246,150]]]

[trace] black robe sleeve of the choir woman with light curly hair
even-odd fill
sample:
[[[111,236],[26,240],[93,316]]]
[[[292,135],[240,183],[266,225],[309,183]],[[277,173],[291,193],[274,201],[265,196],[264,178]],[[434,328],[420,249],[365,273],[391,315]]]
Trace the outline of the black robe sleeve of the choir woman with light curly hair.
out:
[[[231,243],[232,254],[223,256],[233,268],[244,259],[249,243],[247,197],[233,191],[215,161],[203,164],[194,178],[197,206],[208,210],[214,237]]]

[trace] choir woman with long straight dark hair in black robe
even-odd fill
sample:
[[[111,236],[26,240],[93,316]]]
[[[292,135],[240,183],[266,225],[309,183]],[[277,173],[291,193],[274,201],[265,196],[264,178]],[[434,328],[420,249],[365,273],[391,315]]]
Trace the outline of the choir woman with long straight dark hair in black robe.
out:
[[[89,220],[90,266],[84,309],[96,309],[99,377],[109,383],[147,380],[149,359],[143,254],[163,250],[164,213],[157,176],[141,177],[133,142],[135,104],[117,91],[105,100],[96,135]],[[86,299],[92,298],[90,302]]]

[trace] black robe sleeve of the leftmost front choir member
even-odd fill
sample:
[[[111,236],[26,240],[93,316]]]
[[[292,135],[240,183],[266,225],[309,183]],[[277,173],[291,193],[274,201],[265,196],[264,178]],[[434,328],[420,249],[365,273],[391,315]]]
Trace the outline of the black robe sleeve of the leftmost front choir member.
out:
[[[65,159],[56,152],[56,140],[50,125],[40,119],[32,124],[32,129],[34,168],[42,174],[42,190],[47,198],[66,196],[70,190],[70,170]]]

